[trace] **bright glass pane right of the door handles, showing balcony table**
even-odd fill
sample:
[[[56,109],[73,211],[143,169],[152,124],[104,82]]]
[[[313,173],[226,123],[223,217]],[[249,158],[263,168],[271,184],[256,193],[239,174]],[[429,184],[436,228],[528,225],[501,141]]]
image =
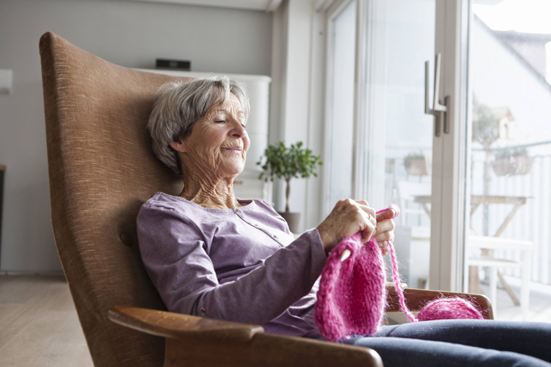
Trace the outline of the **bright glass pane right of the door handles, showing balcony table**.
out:
[[[466,283],[497,318],[534,319],[530,294],[551,286],[551,4],[470,11]]]

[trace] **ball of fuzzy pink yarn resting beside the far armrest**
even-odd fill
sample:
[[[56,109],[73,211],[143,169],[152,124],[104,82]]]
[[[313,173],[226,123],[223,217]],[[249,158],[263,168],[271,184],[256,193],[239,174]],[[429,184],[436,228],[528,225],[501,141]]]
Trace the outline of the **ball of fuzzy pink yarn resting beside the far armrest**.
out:
[[[484,319],[472,303],[462,298],[441,298],[429,302],[419,311],[419,321],[442,319]]]

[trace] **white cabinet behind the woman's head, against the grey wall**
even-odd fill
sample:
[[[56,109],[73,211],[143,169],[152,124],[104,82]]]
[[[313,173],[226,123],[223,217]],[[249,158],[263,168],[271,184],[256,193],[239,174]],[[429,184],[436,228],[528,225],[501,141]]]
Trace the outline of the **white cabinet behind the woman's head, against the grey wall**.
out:
[[[201,78],[214,75],[225,75],[230,79],[240,81],[247,87],[251,101],[251,113],[247,121],[247,133],[251,139],[251,147],[247,152],[245,170],[233,182],[236,196],[242,199],[258,198],[272,204],[271,182],[258,180],[260,167],[256,165],[264,149],[268,146],[268,116],[271,78],[265,75],[221,74],[206,72],[179,72],[175,70],[139,69],[144,72]]]

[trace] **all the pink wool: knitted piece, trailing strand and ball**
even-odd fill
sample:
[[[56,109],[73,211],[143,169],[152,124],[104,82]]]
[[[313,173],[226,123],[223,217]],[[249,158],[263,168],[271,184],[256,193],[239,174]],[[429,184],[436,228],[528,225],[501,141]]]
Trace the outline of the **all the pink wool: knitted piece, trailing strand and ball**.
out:
[[[398,216],[399,209],[393,205],[377,213],[390,208],[395,211],[394,218]],[[379,330],[384,316],[386,289],[381,249],[374,238],[366,244],[362,244],[361,239],[361,232],[344,238],[329,253],[322,271],[315,322],[322,336],[333,342],[353,334],[372,335]],[[484,318],[475,306],[462,298],[442,298],[424,306],[417,319],[408,310],[404,291],[399,286],[398,260],[391,241],[388,247],[400,306],[411,322]],[[351,255],[342,262],[341,255],[346,249]]]

